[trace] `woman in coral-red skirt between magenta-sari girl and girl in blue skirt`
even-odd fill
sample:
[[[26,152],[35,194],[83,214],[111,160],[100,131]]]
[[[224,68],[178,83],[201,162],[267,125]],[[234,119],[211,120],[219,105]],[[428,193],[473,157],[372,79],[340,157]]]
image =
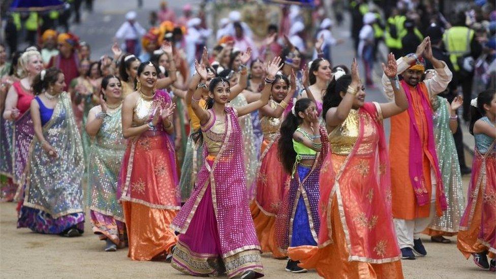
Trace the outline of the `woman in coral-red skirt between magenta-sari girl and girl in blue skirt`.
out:
[[[294,74],[291,75],[291,87],[286,76],[276,75],[271,86],[269,103],[260,109],[263,143],[260,150],[260,165],[256,172],[255,198],[250,205],[250,211],[262,252],[271,252],[274,258],[286,256],[277,249],[275,239],[275,216],[281,206],[288,179],[288,174],[279,159],[277,146],[283,112],[293,98],[295,88]]]

